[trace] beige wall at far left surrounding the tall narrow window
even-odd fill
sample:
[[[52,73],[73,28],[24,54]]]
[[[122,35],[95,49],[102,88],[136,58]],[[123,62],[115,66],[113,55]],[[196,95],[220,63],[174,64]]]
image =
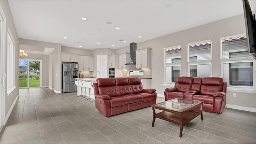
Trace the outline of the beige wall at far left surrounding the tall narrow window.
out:
[[[17,98],[18,94],[19,94],[19,90],[18,90],[18,85],[19,85],[19,70],[18,70],[18,65],[19,65],[19,54],[18,54],[18,35],[16,32],[16,28],[14,26],[14,22],[12,19],[12,14],[10,12],[10,7],[8,4],[7,0],[0,0],[0,6],[3,10],[1,10],[1,14],[4,17],[4,28],[3,28],[3,43],[1,44],[1,64],[0,64],[0,70],[1,70],[1,76],[4,76],[5,74],[8,74],[7,69],[7,33],[8,30],[10,30],[10,34],[12,35],[12,38],[14,39],[14,44],[15,44],[15,50],[14,50],[14,61],[15,61],[15,68],[14,68],[14,86],[17,86],[16,89],[9,94],[9,96],[7,95],[7,79],[4,78],[3,82],[4,82],[4,86],[1,88],[1,100],[4,100],[4,123],[6,122],[6,117],[8,118],[8,115],[10,114],[10,110],[12,108],[12,105],[14,104],[15,99]],[[5,23],[5,24],[4,24]],[[2,104],[2,103],[1,103]],[[1,107],[2,108],[2,107]]]

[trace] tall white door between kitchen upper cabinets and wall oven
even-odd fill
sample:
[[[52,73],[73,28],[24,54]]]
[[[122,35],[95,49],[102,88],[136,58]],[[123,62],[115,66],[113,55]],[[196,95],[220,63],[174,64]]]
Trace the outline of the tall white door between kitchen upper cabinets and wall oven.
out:
[[[108,56],[98,55],[97,56],[97,78],[108,77]]]

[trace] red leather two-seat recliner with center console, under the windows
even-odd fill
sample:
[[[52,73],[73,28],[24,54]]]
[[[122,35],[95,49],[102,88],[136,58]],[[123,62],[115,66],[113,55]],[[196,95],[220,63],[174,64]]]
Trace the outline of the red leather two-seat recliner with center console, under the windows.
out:
[[[165,101],[173,98],[185,98],[203,101],[203,110],[220,114],[226,106],[227,82],[222,78],[179,77],[174,88],[166,88]]]

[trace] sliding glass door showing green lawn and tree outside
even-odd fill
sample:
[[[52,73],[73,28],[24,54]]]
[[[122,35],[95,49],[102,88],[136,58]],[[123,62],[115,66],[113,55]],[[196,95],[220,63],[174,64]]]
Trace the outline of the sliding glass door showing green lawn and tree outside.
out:
[[[42,60],[19,61],[19,87],[30,88],[42,86]]]

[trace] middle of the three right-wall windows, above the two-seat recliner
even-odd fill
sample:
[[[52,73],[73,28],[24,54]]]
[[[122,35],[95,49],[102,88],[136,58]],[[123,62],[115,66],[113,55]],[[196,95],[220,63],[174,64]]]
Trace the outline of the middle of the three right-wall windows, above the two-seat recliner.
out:
[[[189,76],[211,76],[212,62],[211,40],[188,44],[188,69]]]

